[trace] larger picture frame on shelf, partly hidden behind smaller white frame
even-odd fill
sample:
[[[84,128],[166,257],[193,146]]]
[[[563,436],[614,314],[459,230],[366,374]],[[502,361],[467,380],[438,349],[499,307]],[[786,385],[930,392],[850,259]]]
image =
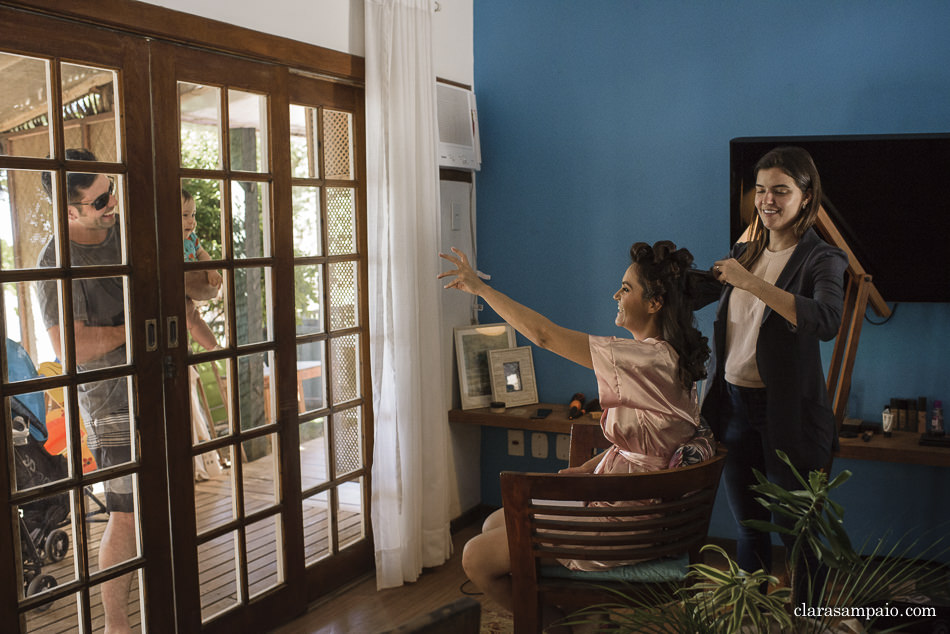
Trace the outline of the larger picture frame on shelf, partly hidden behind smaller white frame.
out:
[[[479,324],[455,328],[455,358],[459,366],[462,409],[488,407],[492,401],[488,351],[515,345],[514,328],[508,324]]]

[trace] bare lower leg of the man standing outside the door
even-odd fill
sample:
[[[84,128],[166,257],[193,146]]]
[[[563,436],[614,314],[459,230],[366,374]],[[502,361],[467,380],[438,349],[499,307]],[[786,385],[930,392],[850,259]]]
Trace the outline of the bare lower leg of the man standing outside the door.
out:
[[[109,522],[99,543],[99,568],[132,559],[136,555],[135,516],[132,513],[109,513]],[[129,627],[129,589],[132,573],[116,577],[102,584],[102,609],[106,617],[106,634],[131,632]]]

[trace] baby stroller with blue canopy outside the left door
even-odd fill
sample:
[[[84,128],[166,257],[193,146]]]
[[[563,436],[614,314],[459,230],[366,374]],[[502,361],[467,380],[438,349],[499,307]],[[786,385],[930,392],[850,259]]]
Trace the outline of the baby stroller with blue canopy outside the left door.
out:
[[[11,381],[39,376],[22,346],[7,339],[7,371]],[[46,451],[47,431],[43,395],[23,394],[10,399],[14,472],[18,490],[42,486],[65,478],[66,458]],[[20,547],[23,558],[24,594],[30,596],[56,585],[43,574],[44,561],[63,559],[69,535],[62,530],[69,517],[69,495],[61,493],[20,507]]]

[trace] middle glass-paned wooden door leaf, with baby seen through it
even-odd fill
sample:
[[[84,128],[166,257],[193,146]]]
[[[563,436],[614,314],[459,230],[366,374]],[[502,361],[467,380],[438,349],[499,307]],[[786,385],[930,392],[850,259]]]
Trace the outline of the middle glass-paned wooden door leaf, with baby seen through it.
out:
[[[286,70],[153,51],[154,85],[175,96],[156,117],[161,143],[175,148],[160,159],[169,177],[157,186],[162,296],[181,324],[170,347],[179,389],[166,403],[173,487],[187,491],[171,501],[176,568],[188,571],[177,586],[179,627],[248,627],[303,607],[288,568],[294,494],[281,477],[294,442],[281,406],[292,398],[284,366],[293,340],[276,236],[289,175],[274,160]]]

